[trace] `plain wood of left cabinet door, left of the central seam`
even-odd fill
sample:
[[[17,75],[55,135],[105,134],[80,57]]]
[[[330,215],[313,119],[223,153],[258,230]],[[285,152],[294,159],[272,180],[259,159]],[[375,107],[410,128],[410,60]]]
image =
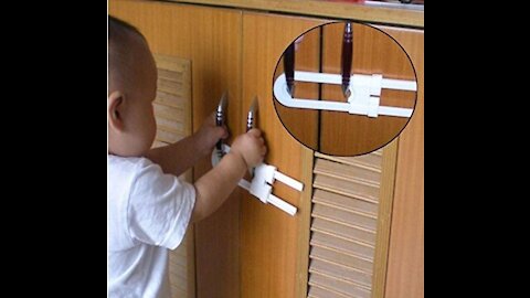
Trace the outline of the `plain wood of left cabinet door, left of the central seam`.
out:
[[[229,127],[232,136],[242,132],[241,26],[237,10],[153,1],[109,1],[109,13],[137,26],[153,53],[191,61],[192,126],[197,131],[214,110],[224,91],[229,92]],[[211,169],[205,159],[193,169],[197,179]],[[195,226],[195,247],[189,241],[188,297],[240,296],[239,226],[240,191]]]

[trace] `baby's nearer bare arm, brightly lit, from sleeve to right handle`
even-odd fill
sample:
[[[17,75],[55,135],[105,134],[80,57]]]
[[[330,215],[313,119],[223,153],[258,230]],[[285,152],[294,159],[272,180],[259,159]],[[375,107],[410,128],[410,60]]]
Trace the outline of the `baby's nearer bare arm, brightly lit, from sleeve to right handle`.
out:
[[[267,148],[258,129],[241,135],[227,155],[195,182],[195,206],[192,221],[208,217],[229,198],[250,167],[263,161]]]

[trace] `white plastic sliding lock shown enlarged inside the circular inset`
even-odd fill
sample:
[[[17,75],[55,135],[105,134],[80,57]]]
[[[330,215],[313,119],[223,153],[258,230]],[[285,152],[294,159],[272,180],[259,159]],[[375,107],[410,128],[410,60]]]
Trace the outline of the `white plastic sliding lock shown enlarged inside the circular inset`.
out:
[[[295,72],[295,81],[335,85],[342,84],[341,75],[312,72]],[[409,118],[412,116],[412,108],[380,106],[382,88],[415,92],[417,85],[414,81],[383,78],[383,76],[379,74],[353,74],[350,79],[349,89],[351,91],[351,95],[348,97],[348,103],[327,102],[293,98],[288,92],[285,74],[282,74],[274,82],[274,96],[282,105],[294,108],[347,111],[349,114],[365,115],[368,117],[382,115]]]

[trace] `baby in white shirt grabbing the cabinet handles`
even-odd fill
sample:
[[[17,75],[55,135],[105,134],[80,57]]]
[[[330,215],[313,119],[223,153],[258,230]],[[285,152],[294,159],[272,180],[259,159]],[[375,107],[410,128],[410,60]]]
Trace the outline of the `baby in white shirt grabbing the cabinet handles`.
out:
[[[190,221],[221,206],[247,169],[263,161],[266,147],[252,129],[193,185],[179,181],[227,137],[226,128],[215,127],[212,114],[195,135],[150,149],[157,68],[141,33],[113,17],[108,67],[108,296],[170,297],[168,248],[179,246]]]

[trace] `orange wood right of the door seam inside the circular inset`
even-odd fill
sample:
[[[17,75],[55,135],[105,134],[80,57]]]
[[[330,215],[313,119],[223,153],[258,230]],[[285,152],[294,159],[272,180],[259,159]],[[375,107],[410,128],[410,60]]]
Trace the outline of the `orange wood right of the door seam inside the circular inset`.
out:
[[[322,70],[340,74],[344,23],[324,28]],[[380,73],[384,77],[415,79],[406,54],[386,34],[368,25],[353,23],[353,73]],[[394,98],[394,99],[392,99]],[[382,105],[413,107],[415,93],[389,92],[381,95]],[[324,85],[322,99],[346,102],[339,85]],[[398,100],[396,100],[398,99]],[[353,156],[386,145],[405,126],[407,118],[379,116],[369,118],[340,111],[322,111],[320,151],[328,155]]]

